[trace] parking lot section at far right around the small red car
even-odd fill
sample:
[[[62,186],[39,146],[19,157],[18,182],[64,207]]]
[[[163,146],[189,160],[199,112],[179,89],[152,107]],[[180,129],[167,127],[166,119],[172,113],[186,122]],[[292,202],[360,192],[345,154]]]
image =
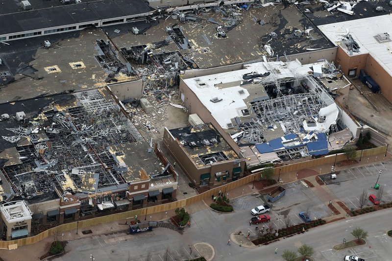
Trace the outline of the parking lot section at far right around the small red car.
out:
[[[337,178],[332,180],[329,174],[322,175],[327,187],[351,209],[359,209],[360,195],[364,189],[368,195],[377,195],[378,190],[373,187],[379,177],[378,183],[383,187],[383,194],[380,199],[381,203],[392,201],[392,180],[391,180],[392,162],[370,164],[368,166],[359,166],[338,172]],[[379,171],[382,171],[379,175]],[[366,201],[365,206],[372,206],[370,200]]]

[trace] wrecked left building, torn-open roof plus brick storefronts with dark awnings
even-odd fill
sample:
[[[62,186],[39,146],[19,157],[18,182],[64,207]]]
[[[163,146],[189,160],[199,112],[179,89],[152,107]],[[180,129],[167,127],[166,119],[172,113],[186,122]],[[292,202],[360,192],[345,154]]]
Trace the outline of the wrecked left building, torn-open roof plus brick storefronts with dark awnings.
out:
[[[175,199],[172,166],[158,145],[143,140],[109,88],[0,106],[9,116],[0,121],[2,202],[25,200],[34,224]],[[1,229],[6,240],[32,235],[13,233],[5,221]]]

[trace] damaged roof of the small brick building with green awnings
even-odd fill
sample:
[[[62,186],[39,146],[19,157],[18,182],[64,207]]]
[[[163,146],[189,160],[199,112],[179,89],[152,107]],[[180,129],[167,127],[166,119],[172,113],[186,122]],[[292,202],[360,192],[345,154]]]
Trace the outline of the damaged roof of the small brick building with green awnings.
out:
[[[170,133],[196,166],[239,159],[211,124],[172,129]]]

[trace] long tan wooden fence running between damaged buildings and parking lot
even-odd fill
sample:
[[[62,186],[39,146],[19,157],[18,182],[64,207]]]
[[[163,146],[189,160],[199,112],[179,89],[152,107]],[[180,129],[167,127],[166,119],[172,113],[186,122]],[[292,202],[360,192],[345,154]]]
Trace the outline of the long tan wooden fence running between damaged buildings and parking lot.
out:
[[[382,147],[366,149],[363,151],[357,151],[356,157],[357,158],[361,157],[361,153],[362,153],[363,158],[369,157],[369,156],[385,153],[386,150],[387,150],[387,146],[385,145]],[[279,169],[281,170],[281,173],[285,173],[285,172],[295,171],[295,170],[299,170],[299,169],[303,169],[303,168],[320,166],[320,165],[324,165],[324,164],[333,164],[335,162],[335,160],[336,160],[336,162],[346,160],[346,156],[344,154],[336,154],[336,156],[324,157],[324,158],[315,159],[315,160],[311,160],[311,161],[275,167],[274,173],[275,174],[279,173]],[[242,179],[224,184],[220,187],[213,188],[211,190],[208,190],[208,191],[203,192],[201,194],[198,194],[196,196],[189,197],[189,198],[182,199],[182,200],[178,200],[178,201],[174,201],[171,203],[147,207],[147,208],[139,209],[139,210],[132,210],[132,211],[127,211],[127,212],[122,212],[122,213],[117,213],[117,214],[95,217],[95,218],[81,220],[81,221],[77,221],[77,222],[73,222],[73,223],[67,223],[67,224],[59,225],[54,228],[50,228],[50,229],[48,229],[48,230],[46,230],[36,236],[33,236],[33,237],[26,237],[26,238],[17,239],[17,240],[10,240],[10,241],[0,241],[0,248],[8,249],[8,246],[14,245],[14,244],[17,244],[18,246],[34,244],[38,241],[41,241],[42,239],[44,239],[46,237],[56,235],[60,232],[75,230],[76,227],[78,227],[78,228],[90,227],[90,226],[95,226],[95,225],[102,224],[102,223],[123,220],[128,217],[135,216],[135,215],[143,216],[145,214],[154,214],[154,213],[158,213],[158,212],[173,210],[176,208],[186,207],[186,206],[189,206],[189,205],[194,204],[196,202],[199,202],[200,200],[209,198],[212,195],[217,195],[220,190],[221,191],[226,191],[226,190],[229,191],[229,190],[233,190],[235,188],[241,187],[249,182],[252,182],[254,178],[255,179],[260,178],[260,173],[251,174],[251,175],[246,176]]]

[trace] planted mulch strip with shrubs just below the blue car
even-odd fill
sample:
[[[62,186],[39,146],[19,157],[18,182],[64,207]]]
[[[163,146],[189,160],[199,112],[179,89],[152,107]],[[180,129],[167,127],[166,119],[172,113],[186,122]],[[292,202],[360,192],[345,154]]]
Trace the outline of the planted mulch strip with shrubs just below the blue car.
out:
[[[252,243],[255,245],[261,245],[261,244],[268,244],[271,241],[274,241],[278,238],[281,237],[289,237],[293,236],[295,234],[300,234],[302,233],[302,228],[305,230],[308,230],[310,228],[318,227],[321,225],[324,225],[326,223],[325,220],[323,219],[317,219],[310,221],[309,223],[301,223],[299,225],[287,227],[287,228],[282,228],[278,231],[278,236],[275,236],[275,232],[267,234],[267,235],[261,235],[257,237],[257,239],[252,240]]]

